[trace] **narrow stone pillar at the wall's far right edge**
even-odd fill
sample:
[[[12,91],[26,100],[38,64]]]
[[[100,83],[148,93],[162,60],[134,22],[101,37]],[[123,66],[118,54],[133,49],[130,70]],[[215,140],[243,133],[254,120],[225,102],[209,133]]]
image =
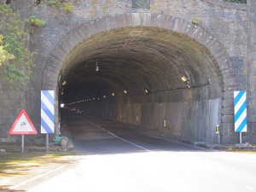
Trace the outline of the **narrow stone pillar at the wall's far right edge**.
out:
[[[248,129],[243,143],[256,143],[256,1],[247,0]]]

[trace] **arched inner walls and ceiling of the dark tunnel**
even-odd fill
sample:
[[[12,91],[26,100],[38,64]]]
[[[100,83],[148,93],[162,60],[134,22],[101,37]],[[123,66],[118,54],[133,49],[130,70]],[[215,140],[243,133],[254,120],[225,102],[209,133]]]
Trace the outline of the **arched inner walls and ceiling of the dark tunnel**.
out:
[[[67,56],[58,84],[59,102],[81,115],[216,143],[218,64],[183,34],[153,27],[97,33]]]

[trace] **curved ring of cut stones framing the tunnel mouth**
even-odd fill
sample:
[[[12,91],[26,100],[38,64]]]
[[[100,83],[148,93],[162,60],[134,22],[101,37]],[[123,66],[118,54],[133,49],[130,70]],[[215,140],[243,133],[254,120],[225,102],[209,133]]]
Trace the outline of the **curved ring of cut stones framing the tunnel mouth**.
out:
[[[56,89],[62,64],[71,51],[81,44],[84,39],[100,32],[137,26],[154,27],[183,34],[209,51],[212,59],[216,61],[216,67],[221,76],[223,89],[221,123],[222,125],[230,125],[233,121],[233,90],[236,90],[235,71],[230,56],[225,51],[223,44],[206,29],[170,15],[149,13],[110,15],[77,26],[61,40],[49,56],[42,77],[42,90]]]

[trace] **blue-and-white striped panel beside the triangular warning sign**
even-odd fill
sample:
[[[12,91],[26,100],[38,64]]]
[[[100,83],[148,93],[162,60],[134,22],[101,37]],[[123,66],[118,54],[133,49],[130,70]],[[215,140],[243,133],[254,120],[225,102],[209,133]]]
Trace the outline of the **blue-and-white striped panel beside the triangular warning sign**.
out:
[[[41,133],[55,132],[55,91],[41,90]]]

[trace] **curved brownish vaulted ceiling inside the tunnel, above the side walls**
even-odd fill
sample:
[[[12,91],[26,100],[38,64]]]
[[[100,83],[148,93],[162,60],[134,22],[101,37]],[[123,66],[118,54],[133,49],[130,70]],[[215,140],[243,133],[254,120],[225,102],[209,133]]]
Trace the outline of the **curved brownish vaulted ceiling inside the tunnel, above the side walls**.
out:
[[[96,63],[99,71],[96,72]],[[61,79],[73,95],[131,95],[220,84],[212,57],[200,44],[182,34],[157,28],[131,27],[102,32],[84,39],[68,55]]]

